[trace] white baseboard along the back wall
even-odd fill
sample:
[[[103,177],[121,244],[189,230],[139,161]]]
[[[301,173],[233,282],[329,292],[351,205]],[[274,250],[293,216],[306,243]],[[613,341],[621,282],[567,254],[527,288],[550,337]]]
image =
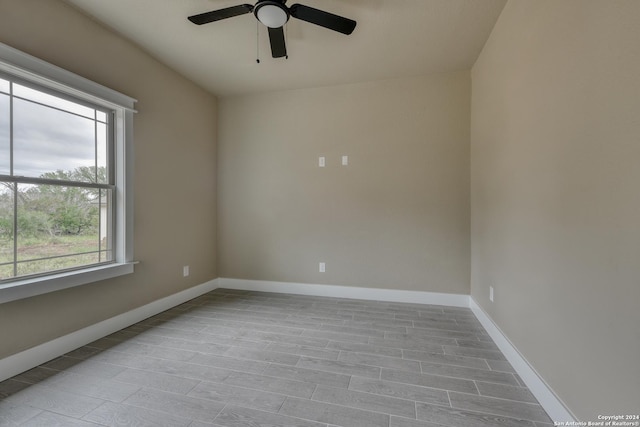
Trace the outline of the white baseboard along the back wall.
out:
[[[364,299],[372,301],[408,302],[416,304],[469,307],[469,295],[436,292],[403,291],[394,289],[360,288],[356,286],[313,285],[307,283],[270,282],[218,278],[218,287],[247,291],[276,292],[283,294],[314,295],[336,298]]]

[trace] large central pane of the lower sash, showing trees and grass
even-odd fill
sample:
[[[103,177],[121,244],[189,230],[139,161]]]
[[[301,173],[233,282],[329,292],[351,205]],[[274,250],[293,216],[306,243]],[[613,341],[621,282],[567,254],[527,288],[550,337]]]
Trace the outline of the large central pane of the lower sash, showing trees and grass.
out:
[[[99,261],[100,190],[19,184],[18,192],[19,275]]]

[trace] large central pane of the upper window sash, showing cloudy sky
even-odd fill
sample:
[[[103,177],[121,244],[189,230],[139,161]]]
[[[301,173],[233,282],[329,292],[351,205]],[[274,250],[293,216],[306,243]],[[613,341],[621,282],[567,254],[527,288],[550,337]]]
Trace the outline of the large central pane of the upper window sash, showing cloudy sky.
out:
[[[93,181],[69,174],[95,167],[95,121],[21,99],[13,111],[14,175]]]

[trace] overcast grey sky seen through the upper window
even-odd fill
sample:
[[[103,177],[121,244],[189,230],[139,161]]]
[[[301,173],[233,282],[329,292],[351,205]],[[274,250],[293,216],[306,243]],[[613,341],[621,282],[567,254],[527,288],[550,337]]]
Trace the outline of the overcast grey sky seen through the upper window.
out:
[[[6,85],[0,79],[0,91],[3,87]],[[14,84],[14,94],[47,104],[14,98],[14,175],[39,177],[56,170],[95,166],[96,122],[93,109],[17,84]],[[10,161],[9,105],[9,96],[0,93],[0,174],[4,175],[9,174]],[[105,166],[107,138],[104,123],[98,122],[97,135],[98,166]]]

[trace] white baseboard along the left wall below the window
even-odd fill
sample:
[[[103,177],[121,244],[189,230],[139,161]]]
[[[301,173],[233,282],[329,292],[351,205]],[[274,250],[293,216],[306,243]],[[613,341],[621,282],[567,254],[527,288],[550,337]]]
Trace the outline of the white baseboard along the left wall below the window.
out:
[[[176,305],[187,302],[217,288],[217,279],[194,286],[142,307],[96,323],[28,350],[0,359],[0,381],[35,368],[51,359],[131,326]]]

